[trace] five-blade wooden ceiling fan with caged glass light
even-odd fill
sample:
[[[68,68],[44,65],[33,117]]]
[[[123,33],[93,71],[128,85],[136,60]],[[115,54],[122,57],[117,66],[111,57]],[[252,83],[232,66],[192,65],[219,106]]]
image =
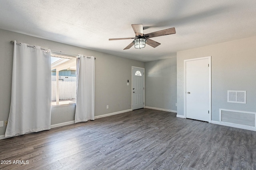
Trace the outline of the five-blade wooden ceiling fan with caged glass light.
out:
[[[132,29],[135,33],[135,37],[110,38],[108,40],[134,39],[132,41],[132,43],[130,43],[127,47],[124,48],[124,50],[130,49],[133,45],[136,49],[141,49],[141,48],[144,48],[146,46],[146,44],[155,48],[158,45],[160,45],[160,43],[158,43],[158,42],[156,42],[152,39],[149,39],[149,38],[159,37],[159,36],[162,36],[162,35],[169,35],[169,34],[175,34],[176,33],[175,28],[173,27],[173,28],[163,29],[163,30],[160,30],[160,31],[144,34],[142,24],[132,24]]]

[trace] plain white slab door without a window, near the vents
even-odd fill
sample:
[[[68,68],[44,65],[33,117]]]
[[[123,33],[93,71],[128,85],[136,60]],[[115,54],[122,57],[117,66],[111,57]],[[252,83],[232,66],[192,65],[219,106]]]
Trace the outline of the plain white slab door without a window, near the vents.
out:
[[[210,57],[184,61],[186,118],[211,121]]]

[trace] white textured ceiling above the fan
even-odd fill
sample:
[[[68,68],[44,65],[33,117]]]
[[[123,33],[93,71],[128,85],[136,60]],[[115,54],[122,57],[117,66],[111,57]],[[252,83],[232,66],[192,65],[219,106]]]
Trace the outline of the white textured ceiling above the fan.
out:
[[[108,41],[134,37],[131,24],[137,23],[143,24],[145,34],[171,27],[176,34],[151,38],[161,43],[156,48],[123,50],[131,39]],[[154,61],[256,36],[256,0],[0,0],[0,28]]]

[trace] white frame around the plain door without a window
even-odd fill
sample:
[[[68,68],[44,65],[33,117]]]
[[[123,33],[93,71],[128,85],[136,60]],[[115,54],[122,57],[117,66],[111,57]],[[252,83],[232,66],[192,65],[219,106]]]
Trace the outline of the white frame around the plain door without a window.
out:
[[[208,117],[208,122],[211,123],[212,120],[212,56],[208,57],[200,57],[200,58],[195,58],[195,59],[187,59],[184,60],[184,118],[187,118],[186,116],[186,62],[187,61],[195,61],[195,60],[201,60],[201,59],[208,59],[209,63],[209,68],[208,68],[208,81],[209,81],[209,86],[208,86],[208,96],[209,96],[209,103],[208,103],[208,108],[209,108],[209,117]]]

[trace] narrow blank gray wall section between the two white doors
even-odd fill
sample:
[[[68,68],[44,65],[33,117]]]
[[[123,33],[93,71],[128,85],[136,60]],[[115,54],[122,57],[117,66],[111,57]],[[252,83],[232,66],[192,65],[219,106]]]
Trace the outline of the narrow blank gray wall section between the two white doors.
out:
[[[145,63],[145,106],[176,111],[176,57]]]

